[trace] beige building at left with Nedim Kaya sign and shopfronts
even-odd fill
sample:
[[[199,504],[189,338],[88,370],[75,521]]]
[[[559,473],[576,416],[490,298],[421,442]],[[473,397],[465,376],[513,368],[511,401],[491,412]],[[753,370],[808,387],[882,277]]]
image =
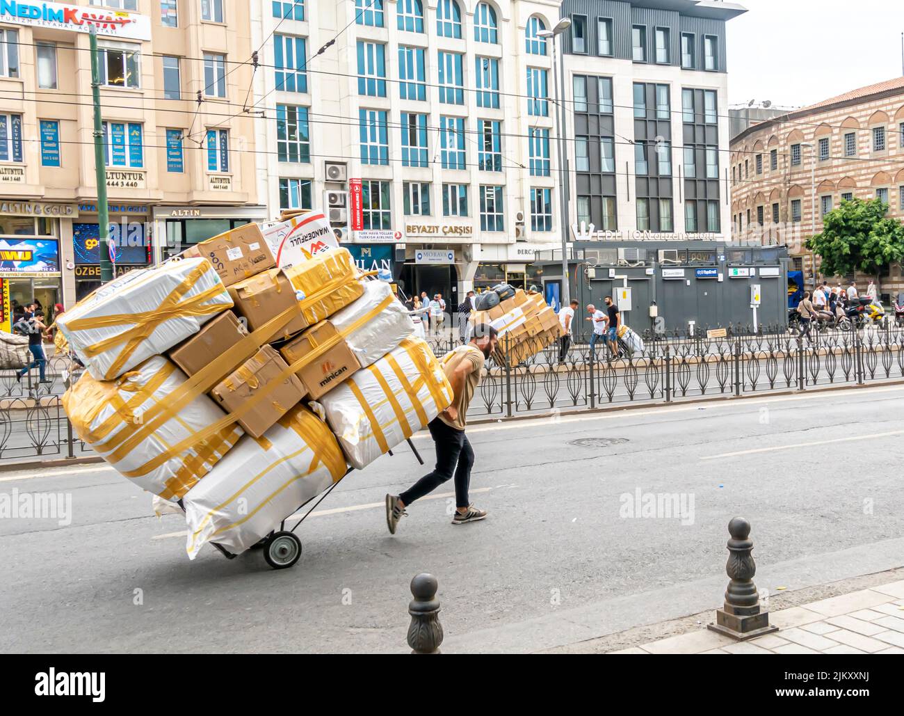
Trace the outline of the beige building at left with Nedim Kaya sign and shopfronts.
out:
[[[71,306],[99,285],[92,24],[118,271],[266,218],[257,196],[255,120],[242,112],[252,74],[249,4],[2,3],[0,280],[7,321],[16,303]]]

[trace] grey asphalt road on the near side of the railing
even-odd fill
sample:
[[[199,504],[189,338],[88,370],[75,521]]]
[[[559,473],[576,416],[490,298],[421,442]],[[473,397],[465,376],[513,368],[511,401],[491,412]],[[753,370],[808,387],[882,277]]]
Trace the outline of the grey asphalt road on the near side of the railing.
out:
[[[157,519],[106,466],[0,473],[0,499],[72,501],[68,525],[0,519],[0,651],[400,653],[420,571],[439,579],[444,651],[536,651],[716,607],[737,514],[760,589],[899,567],[902,398],[886,385],[474,427],[485,522],[450,524],[449,485],[391,536],[383,495],[425,472],[400,448],[339,485],[281,571],[257,551],[189,561],[181,517]],[[678,494],[684,518],[625,516],[638,490]]]

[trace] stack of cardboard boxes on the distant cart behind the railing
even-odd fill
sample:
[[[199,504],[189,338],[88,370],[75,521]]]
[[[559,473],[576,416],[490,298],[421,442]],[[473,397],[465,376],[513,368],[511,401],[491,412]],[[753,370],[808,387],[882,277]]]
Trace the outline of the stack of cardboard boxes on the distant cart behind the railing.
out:
[[[471,325],[489,324],[499,332],[497,363],[517,365],[557,341],[564,331],[559,316],[539,293],[527,294],[521,288],[511,298],[488,311],[475,311]]]

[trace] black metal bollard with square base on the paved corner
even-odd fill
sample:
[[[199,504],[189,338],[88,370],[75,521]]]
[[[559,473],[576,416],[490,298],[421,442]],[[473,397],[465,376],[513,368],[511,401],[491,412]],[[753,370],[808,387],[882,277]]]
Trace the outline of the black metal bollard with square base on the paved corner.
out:
[[[759,592],[753,583],[757,565],[751,553],[750,523],[743,517],[735,517],[729,523],[729,534],[729,561],[725,571],[730,581],[725,590],[725,605],[716,609],[716,623],[709,627],[739,641],[778,631],[777,626],[769,626],[769,613],[760,608]]]

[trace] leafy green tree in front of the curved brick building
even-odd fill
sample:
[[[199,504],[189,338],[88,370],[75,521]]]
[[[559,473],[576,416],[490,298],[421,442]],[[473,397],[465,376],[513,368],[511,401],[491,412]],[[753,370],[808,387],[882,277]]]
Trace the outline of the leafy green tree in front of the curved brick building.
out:
[[[822,233],[805,242],[823,259],[825,276],[860,271],[875,276],[881,290],[881,269],[904,259],[904,225],[886,216],[888,210],[880,199],[852,199],[825,214]]]

